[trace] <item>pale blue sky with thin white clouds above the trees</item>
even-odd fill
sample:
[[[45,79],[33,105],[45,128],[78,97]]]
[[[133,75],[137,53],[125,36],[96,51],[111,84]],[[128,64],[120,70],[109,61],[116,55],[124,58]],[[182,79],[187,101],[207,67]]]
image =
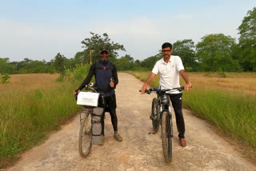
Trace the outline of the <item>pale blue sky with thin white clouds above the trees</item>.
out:
[[[94,32],[125,47],[118,58],[143,60],[158,54],[164,42],[196,44],[207,34],[238,39],[238,26],[255,6],[255,0],[0,0],[0,58],[74,58]]]

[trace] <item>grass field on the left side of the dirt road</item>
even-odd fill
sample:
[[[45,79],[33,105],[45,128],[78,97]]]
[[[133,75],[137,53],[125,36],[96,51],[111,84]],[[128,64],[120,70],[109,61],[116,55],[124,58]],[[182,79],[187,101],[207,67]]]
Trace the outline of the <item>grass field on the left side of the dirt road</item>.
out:
[[[77,83],[55,82],[57,74],[11,75],[0,84],[0,168],[42,141],[78,111]]]

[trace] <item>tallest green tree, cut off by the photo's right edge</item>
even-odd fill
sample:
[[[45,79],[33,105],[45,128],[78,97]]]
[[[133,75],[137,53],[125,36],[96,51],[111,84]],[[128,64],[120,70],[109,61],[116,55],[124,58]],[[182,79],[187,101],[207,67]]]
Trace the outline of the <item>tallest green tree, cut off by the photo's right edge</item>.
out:
[[[256,7],[247,12],[238,30],[238,60],[243,70],[256,71]]]

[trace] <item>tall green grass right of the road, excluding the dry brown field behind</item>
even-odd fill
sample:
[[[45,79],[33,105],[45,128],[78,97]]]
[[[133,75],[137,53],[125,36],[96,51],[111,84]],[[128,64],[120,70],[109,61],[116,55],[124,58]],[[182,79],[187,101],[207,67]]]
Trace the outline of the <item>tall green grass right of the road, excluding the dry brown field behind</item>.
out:
[[[134,72],[135,77],[145,81],[150,72]],[[158,86],[159,78],[150,82]],[[184,83],[182,83],[184,85]],[[183,105],[194,114],[206,119],[227,137],[237,141],[252,160],[256,159],[256,96],[239,89],[229,90],[193,83],[190,92],[183,92]]]

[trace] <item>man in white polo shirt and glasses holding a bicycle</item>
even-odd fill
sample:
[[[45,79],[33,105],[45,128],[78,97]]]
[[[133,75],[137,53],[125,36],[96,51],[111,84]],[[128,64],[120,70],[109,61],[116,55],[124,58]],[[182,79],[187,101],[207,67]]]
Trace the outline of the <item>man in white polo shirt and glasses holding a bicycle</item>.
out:
[[[160,74],[160,86],[161,89],[172,89],[180,87],[179,85],[179,74],[186,82],[185,90],[189,91],[192,84],[189,78],[185,74],[184,66],[182,64],[182,59],[178,56],[171,56],[173,50],[172,45],[169,42],[162,44],[162,56],[154,65],[154,69],[150,76],[146,79],[146,82],[142,86],[141,92],[145,93],[147,85],[151,82],[156,74]],[[177,91],[170,92],[170,101],[174,107],[174,113],[176,117],[176,124],[178,128],[178,137],[180,145],[182,147],[186,146],[185,141],[185,123],[182,113],[182,93]]]

